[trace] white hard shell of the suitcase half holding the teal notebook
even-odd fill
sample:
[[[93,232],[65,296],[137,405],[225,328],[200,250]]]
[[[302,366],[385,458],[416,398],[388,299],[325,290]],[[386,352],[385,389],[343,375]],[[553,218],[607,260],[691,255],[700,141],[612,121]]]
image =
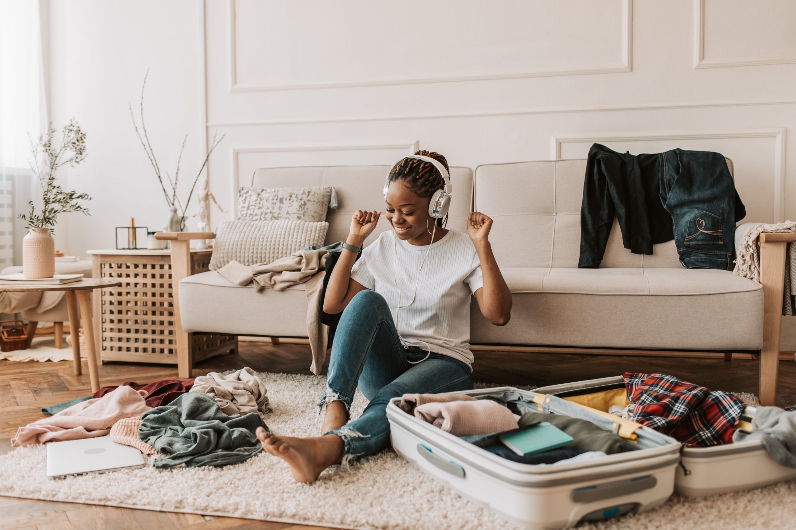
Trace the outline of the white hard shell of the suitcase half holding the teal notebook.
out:
[[[630,427],[637,436],[638,451],[536,466],[493,455],[404,412],[398,407],[400,398],[390,401],[390,437],[399,455],[521,528],[565,528],[582,520],[639,513],[661,505],[673,493],[680,444],[669,436],[536,392],[501,387],[466,393],[516,404],[521,413],[541,410],[590,420],[615,433]]]

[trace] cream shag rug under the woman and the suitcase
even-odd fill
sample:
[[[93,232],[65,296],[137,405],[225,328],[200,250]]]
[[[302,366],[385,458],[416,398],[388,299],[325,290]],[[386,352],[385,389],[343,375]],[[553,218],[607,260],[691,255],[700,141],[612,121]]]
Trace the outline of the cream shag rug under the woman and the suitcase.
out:
[[[274,409],[264,416],[268,426],[277,434],[318,435],[315,403],[326,378],[259,375]],[[364,406],[365,399],[357,393],[353,415]],[[349,470],[334,466],[309,486],[293,482],[287,465],[265,453],[221,468],[147,466],[60,480],[48,480],[44,470],[45,447],[10,451],[0,457],[0,495],[338,528],[514,528],[428,478],[392,450],[353,462]],[[794,528],[794,500],[796,482],[702,499],[672,497],[647,513],[578,528]]]

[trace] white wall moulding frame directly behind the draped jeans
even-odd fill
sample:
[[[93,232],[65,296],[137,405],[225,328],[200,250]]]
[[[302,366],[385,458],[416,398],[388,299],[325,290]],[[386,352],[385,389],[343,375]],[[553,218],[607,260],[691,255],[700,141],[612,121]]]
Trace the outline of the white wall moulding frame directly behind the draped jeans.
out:
[[[653,133],[575,133],[552,136],[551,157],[559,160],[565,143],[607,143],[615,141],[704,140],[720,138],[772,138],[774,141],[774,219],[785,220],[785,149],[786,128],[738,129],[713,131],[670,131]]]

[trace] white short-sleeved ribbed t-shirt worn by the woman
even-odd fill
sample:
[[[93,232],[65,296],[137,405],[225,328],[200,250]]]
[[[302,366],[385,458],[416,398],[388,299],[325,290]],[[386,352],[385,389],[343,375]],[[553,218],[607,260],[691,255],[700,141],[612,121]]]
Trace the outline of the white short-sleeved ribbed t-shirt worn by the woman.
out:
[[[426,251],[428,257],[419,270]],[[472,364],[470,296],[482,287],[483,277],[478,252],[467,234],[448,230],[431,245],[417,246],[387,230],[362,250],[351,277],[384,296],[409,346]],[[403,307],[412,300],[416,285],[415,300]]]

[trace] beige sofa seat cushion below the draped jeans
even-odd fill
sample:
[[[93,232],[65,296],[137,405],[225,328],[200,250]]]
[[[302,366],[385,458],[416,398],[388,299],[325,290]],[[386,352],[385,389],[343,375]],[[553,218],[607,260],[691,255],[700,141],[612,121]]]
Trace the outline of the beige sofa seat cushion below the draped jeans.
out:
[[[512,319],[470,308],[470,342],[654,350],[759,350],[763,290],[716,269],[502,269]],[[477,360],[477,359],[476,359]]]

